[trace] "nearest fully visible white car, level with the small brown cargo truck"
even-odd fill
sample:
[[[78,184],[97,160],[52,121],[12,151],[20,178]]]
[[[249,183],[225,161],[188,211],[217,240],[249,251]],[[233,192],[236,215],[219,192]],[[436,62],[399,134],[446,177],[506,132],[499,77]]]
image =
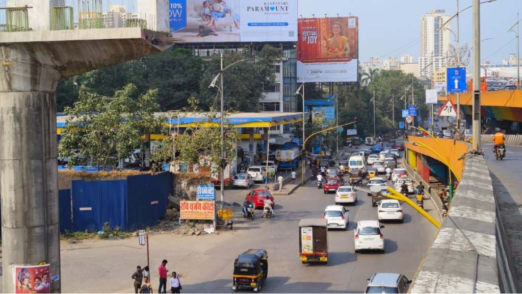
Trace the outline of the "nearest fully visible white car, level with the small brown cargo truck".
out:
[[[355,253],[360,250],[379,250],[384,253],[384,236],[380,225],[376,220],[358,221],[353,227]]]

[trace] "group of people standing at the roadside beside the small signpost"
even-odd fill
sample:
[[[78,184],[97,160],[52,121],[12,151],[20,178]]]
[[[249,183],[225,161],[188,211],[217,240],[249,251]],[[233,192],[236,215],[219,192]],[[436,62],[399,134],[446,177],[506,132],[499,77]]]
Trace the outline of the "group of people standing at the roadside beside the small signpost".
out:
[[[158,273],[160,276],[158,293],[167,293],[167,273],[169,272],[165,267],[167,263],[167,259],[163,259],[161,265],[158,267]],[[134,280],[134,293],[153,293],[152,285],[150,284],[150,269],[148,265],[143,269],[138,265],[136,267],[136,272],[134,272],[131,278]],[[170,292],[181,293],[181,290],[182,286],[180,276],[178,276],[176,272],[172,272],[170,278]]]

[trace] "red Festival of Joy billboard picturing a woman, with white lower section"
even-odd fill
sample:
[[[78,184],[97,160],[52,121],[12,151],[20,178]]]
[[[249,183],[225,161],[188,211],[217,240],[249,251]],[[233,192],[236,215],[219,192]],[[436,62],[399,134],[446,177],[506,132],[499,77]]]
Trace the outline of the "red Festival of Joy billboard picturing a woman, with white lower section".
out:
[[[358,17],[300,18],[298,33],[298,83],[357,82]]]

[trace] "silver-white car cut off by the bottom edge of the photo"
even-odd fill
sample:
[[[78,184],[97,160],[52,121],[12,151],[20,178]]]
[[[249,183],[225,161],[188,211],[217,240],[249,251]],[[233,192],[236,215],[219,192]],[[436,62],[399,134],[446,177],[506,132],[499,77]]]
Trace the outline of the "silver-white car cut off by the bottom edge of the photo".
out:
[[[375,273],[366,281],[364,293],[408,293],[411,284],[405,275],[393,273]]]

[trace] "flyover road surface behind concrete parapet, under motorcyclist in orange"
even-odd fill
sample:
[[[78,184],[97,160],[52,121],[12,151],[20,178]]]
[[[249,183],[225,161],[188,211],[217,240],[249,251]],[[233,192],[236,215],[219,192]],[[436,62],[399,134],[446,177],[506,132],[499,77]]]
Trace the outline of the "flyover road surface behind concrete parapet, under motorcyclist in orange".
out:
[[[522,195],[520,195],[520,163],[522,146],[506,146],[504,160],[495,160],[493,144],[482,144],[485,159],[493,180],[495,199],[499,205],[504,230],[506,231],[509,251],[516,270],[516,280],[522,289]]]

